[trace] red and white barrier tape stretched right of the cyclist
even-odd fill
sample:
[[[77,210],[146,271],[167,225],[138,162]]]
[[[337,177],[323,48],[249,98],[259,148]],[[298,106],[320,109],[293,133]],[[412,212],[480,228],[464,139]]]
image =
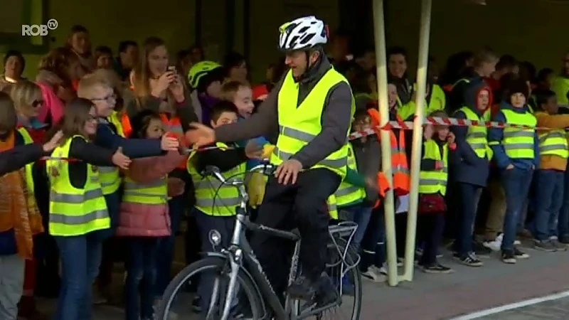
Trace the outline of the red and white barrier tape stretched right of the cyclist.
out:
[[[447,125],[454,127],[486,127],[486,128],[519,128],[519,129],[543,129],[548,130],[548,127],[531,127],[524,126],[520,124],[509,124],[506,122],[496,122],[496,121],[478,121],[469,119],[457,119],[457,118],[442,118],[442,117],[425,117],[425,124],[435,124],[435,125]],[[377,127],[376,129],[381,130],[391,130],[391,129],[403,129],[412,130],[413,121],[390,121],[383,127]],[[349,139],[358,139],[361,137],[370,136],[376,134],[376,129],[366,129],[363,131],[352,132]]]

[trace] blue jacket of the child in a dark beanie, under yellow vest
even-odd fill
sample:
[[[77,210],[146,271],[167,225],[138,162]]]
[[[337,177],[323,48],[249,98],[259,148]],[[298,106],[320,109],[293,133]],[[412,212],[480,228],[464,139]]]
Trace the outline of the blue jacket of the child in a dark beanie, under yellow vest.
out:
[[[528,111],[527,105],[523,106],[523,108],[516,108],[510,105],[507,102],[502,102],[500,104],[500,111],[496,112],[492,121],[496,122],[506,122],[506,117],[504,116],[504,112],[501,110],[511,110],[519,114],[523,114]],[[494,150],[494,160],[496,161],[496,166],[499,169],[505,170],[506,166],[509,164],[513,164],[518,169],[529,170],[533,168],[537,168],[539,166],[539,140],[537,132],[534,134],[533,138],[533,159],[511,159],[509,156],[506,155],[506,151],[504,150],[504,146],[501,144],[502,140],[504,139],[504,129],[502,128],[492,128],[488,134],[488,141],[489,142],[500,142],[500,144],[492,145],[492,150]]]

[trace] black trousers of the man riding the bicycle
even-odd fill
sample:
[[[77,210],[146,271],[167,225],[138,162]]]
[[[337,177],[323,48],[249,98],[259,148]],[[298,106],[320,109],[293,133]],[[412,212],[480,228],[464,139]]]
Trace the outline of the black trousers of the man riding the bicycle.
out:
[[[270,228],[298,228],[300,263],[304,276],[318,279],[326,267],[326,244],[330,215],[328,197],[341,182],[338,174],[328,169],[312,169],[299,174],[297,183],[283,185],[269,178],[265,198],[256,223]],[[277,294],[284,292],[290,266],[292,242],[265,233],[251,235],[251,247]]]

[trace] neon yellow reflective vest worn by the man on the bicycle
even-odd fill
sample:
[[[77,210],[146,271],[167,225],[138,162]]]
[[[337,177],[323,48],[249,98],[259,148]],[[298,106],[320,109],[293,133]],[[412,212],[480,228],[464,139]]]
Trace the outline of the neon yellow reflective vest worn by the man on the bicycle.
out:
[[[321,116],[326,96],[330,89],[339,82],[348,83],[343,75],[331,68],[298,106],[299,85],[294,82],[292,71],[287,73],[278,95],[279,137],[270,156],[271,164],[279,165],[290,159],[292,155],[296,154],[321,132]],[[355,107],[352,99],[351,117],[353,117]],[[346,131],[346,144],[344,146],[326,156],[311,169],[326,168],[336,172],[342,178],[346,176],[348,134],[349,130]]]

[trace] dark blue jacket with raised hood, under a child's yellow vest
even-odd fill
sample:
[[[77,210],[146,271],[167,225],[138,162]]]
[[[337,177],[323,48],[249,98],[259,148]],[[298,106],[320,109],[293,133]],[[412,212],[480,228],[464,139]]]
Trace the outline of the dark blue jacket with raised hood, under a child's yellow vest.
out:
[[[482,112],[477,107],[477,100],[480,91],[487,90],[491,94],[491,89],[486,85],[482,78],[470,80],[469,85],[464,90],[464,106],[472,112],[482,116]],[[490,100],[491,103],[491,100]],[[467,115],[461,110],[454,112],[452,116],[457,119],[467,119]],[[451,127],[457,144],[457,149],[452,151],[456,154],[454,165],[451,164],[452,181],[460,183],[471,183],[476,186],[486,186],[489,174],[489,159],[477,156],[472,146],[467,142],[468,127]]]

